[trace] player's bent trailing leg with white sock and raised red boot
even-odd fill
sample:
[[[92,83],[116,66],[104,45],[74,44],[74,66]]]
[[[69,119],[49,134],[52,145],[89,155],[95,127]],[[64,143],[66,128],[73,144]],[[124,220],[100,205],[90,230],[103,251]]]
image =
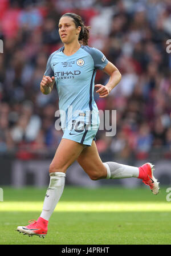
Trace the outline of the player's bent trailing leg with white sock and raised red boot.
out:
[[[102,162],[96,148],[95,141],[91,147],[83,149],[78,157],[78,162],[92,180],[100,178],[141,178],[149,185],[153,194],[158,194],[158,183],[153,176],[154,165],[149,162],[140,166],[129,166],[117,162]]]

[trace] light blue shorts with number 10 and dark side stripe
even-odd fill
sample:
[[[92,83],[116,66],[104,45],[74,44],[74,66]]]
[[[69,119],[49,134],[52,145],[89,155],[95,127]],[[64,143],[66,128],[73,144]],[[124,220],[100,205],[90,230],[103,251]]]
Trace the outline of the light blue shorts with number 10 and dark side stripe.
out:
[[[73,117],[70,124],[67,123],[66,128],[63,128],[62,138],[91,146],[92,141],[96,140],[99,124],[99,113],[93,113],[88,118],[86,112],[78,113],[78,116]]]

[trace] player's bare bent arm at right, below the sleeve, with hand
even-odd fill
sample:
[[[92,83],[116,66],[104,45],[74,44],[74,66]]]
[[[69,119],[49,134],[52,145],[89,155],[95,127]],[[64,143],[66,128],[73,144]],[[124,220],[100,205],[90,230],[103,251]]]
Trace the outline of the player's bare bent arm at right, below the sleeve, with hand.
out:
[[[96,84],[95,87],[98,87],[99,89],[96,91],[99,93],[99,97],[107,97],[111,90],[120,82],[121,80],[121,74],[117,67],[113,65],[111,62],[108,62],[108,64],[105,66],[103,71],[110,76],[109,82],[103,86],[102,84]]]

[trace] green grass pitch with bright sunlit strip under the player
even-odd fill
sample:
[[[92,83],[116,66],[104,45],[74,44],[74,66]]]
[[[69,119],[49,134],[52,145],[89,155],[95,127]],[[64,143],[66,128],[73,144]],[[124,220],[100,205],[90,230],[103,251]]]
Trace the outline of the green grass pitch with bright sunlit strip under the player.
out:
[[[66,186],[44,239],[15,231],[37,219],[46,188],[2,187],[1,245],[166,245],[171,243],[171,202],[166,188]]]

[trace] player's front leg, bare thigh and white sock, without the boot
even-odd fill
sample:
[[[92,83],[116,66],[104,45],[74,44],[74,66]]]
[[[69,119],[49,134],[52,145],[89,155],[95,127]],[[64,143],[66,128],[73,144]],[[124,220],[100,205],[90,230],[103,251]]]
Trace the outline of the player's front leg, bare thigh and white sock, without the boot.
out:
[[[49,220],[56,204],[62,196],[66,170],[85,148],[85,145],[72,140],[62,139],[56,150],[54,159],[50,164],[50,184],[44,198],[43,210],[40,215],[44,220]]]

